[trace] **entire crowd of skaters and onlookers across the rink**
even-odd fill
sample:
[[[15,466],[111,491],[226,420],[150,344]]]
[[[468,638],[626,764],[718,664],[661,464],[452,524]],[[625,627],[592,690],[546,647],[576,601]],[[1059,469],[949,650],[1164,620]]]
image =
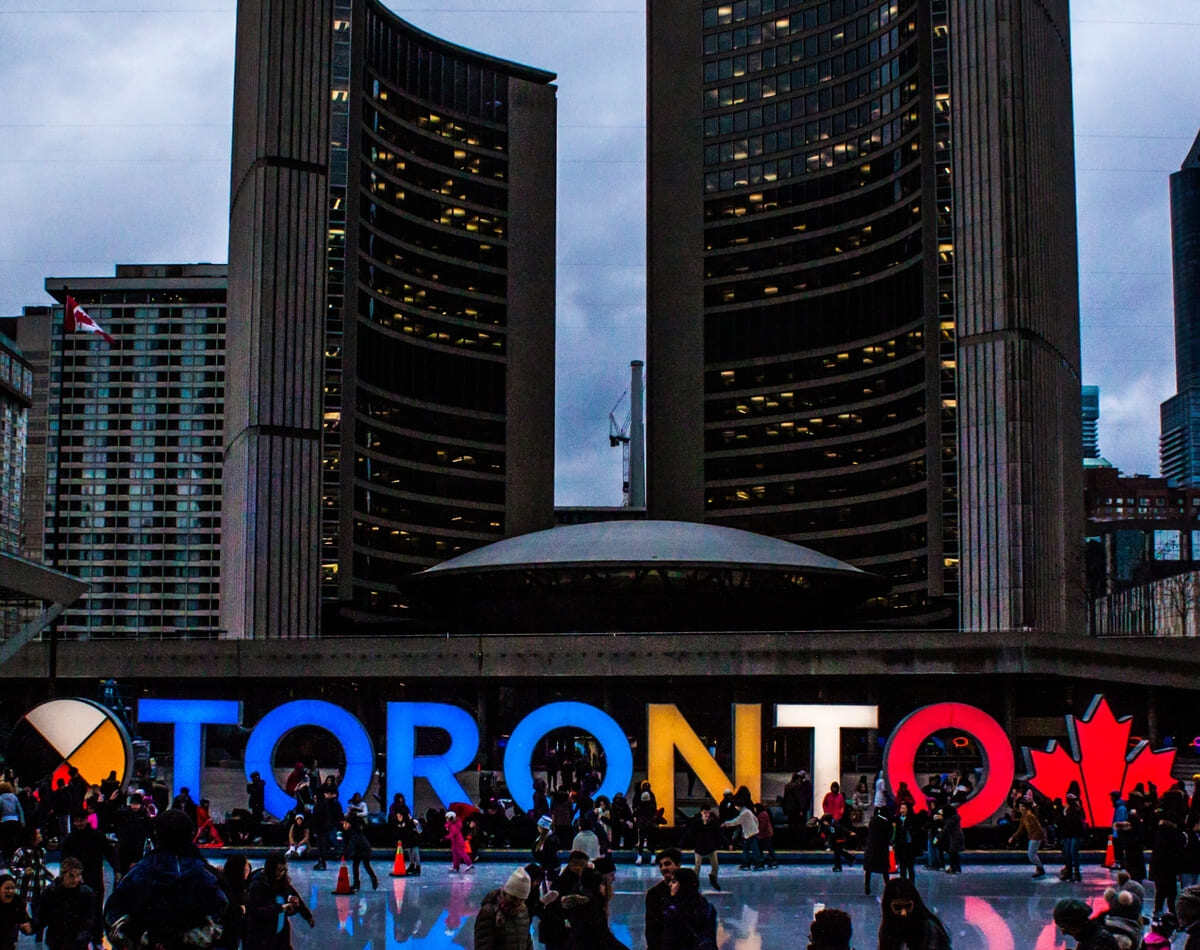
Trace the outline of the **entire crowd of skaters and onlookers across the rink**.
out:
[[[646,895],[648,950],[715,950],[716,912],[701,892],[701,876],[707,871],[708,884],[720,890],[719,854],[730,850],[740,854],[742,870],[775,867],[772,808],[745,787],[726,789],[719,801],[683,814],[682,828],[667,837],[649,782],[610,799],[599,793],[600,780],[586,759],[566,759],[566,768],[560,763],[535,780],[529,811],[498,789],[485,789],[479,805],[452,802],[420,816],[395,795],[383,824],[408,874],[421,873],[422,846],[448,846],[451,874],[472,873],[487,848],[529,849],[529,862],[482,901],[475,919],[481,950],[532,950],[534,939],[548,950],[620,948],[608,925],[618,849],[631,849],[638,865],[655,864],[661,876]],[[314,860],[320,871],[341,858],[353,868],[352,890],[364,872],[372,888],[379,885],[367,837],[368,822],[377,819],[361,794],[343,807],[338,781],[316,764],[296,764],[284,781],[294,799],[283,820],[287,849],[256,870],[241,854],[220,868],[205,860],[205,847],[226,843],[230,832],[186,788],[169,800],[161,783],[122,788],[110,775],[89,786],[70,768],[36,788],[0,776],[0,950],[14,948],[19,933],[36,934],[49,950],[100,946],[104,934],[118,948],[289,948],[293,918],[314,922],[290,883],[289,860]],[[251,828],[265,818],[264,787],[257,774],[246,786]],[[811,781],[797,772],[780,805],[788,844],[823,844],[834,871],[860,861],[866,895],[874,878],[882,879],[880,948],[941,950],[950,937],[922,900],[916,868],[961,871],[958,808],[972,790],[971,776],[956,772],[935,775],[916,790],[901,783],[895,794],[882,775],[862,776],[848,798],[833,783],[814,810]],[[1078,946],[1151,950],[1182,932],[1176,946],[1200,950],[1200,792],[1189,795],[1182,782],[1162,795],[1153,784],[1114,792],[1111,828],[1088,829],[1078,788],[1050,800],[1018,786],[998,825],[1008,844],[1026,848],[1034,878],[1046,873],[1044,853],[1061,850],[1064,883],[1082,879],[1080,850],[1088,835],[1093,842],[1094,834],[1111,835],[1116,877],[1105,908],[1093,913],[1074,897],[1055,908],[1055,922]],[[56,876],[50,850],[58,852]],[[104,864],[112,868],[110,895]],[[1146,880],[1154,884],[1152,909],[1144,906]],[[810,948],[848,950],[850,939],[845,913],[816,914]]]

